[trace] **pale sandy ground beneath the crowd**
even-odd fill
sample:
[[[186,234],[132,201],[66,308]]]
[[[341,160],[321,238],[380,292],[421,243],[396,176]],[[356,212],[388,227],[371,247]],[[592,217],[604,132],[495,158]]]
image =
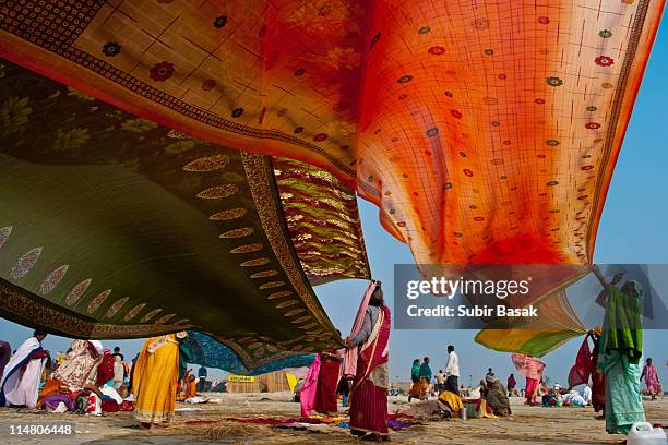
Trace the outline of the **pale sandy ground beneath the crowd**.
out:
[[[37,413],[0,409],[0,443],[8,444],[114,444],[114,445],[186,445],[186,444],[349,444],[359,443],[347,434],[320,434],[264,425],[225,421],[226,418],[299,417],[299,405],[290,394],[210,394],[220,404],[199,405],[204,411],[178,411],[174,424],[143,431],[131,413],[118,412],[104,417],[72,413]],[[405,397],[391,397],[390,411],[406,402]],[[609,435],[605,423],[595,419],[591,408],[525,407],[512,399],[513,416],[499,419],[442,420],[426,422],[392,434],[399,444],[615,444],[624,437]],[[178,404],[178,408],[192,407]],[[668,425],[668,397],[645,400],[651,422]],[[191,424],[189,421],[213,420],[214,423]],[[73,422],[73,436],[10,436],[12,423]],[[7,440],[7,442],[5,442]]]

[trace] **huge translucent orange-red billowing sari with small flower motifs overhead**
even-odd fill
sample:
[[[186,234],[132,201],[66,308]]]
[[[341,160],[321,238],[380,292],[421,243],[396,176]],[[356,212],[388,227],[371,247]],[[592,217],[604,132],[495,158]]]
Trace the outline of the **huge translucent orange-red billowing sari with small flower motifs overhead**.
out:
[[[664,1],[38,4],[1,55],[329,169],[417,263],[586,264]]]

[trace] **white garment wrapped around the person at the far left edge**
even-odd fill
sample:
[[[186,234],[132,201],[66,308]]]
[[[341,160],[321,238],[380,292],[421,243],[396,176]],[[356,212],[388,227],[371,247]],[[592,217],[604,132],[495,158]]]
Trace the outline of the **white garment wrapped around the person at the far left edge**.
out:
[[[39,397],[39,382],[47,361],[41,344],[31,337],[12,356],[0,382],[0,407],[35,408]]]

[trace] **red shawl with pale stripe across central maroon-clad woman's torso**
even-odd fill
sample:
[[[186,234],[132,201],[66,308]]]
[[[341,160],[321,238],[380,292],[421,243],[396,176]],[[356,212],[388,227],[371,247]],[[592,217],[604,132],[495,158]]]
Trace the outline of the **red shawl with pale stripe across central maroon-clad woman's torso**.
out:
[[[390,308],[382,306],[371,335],[369,335],[367,341],[359,346],[358,368],[353,392],[362,381],[369,377],[377,366],[386,363],[390,359],[389,341],[391,325]]]

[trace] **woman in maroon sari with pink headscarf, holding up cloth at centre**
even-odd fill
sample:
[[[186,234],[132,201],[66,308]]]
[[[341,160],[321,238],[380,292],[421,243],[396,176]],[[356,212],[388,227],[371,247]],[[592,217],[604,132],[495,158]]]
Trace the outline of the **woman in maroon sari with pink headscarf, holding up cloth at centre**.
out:
[[[380,281],[369,299],[361,329],[346,340],[359,348],[357,370],[350,389],[350,432],[372,441],[387,435],[387,348],[390,309],[384,304]]]

